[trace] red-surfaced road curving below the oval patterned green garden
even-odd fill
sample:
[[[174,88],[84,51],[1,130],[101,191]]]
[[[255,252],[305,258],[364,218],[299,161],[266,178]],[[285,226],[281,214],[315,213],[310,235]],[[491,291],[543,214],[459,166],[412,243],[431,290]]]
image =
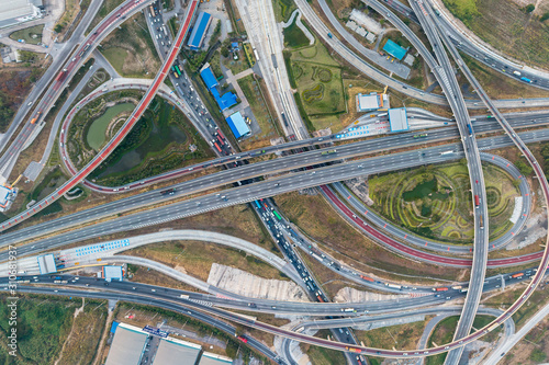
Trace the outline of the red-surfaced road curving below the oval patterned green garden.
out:
[[[377,240],[383,242],[384,244],[389,246],[393,250],[401,252],[403,254],[406,254],[412,258],[418,258],[424,261],[429,261],[436,264],[446,264],[446,265],[452,265],[452,266],[460,266],[460,267],[470,267],[472,264],[472,260],[470,259],[457,259],[457,258],[447,258],[447,256],[441,256],[437,255],[434,253],[428,253],[424,251],[416,250],[414,248],[411,248],[406,244],[403,244],[399,241],[395,241],[394,239],[390,238],[389,236],[385,236],[384,233],[378,231],[374,229],[372,226],[366,224],[362,219],[359,217],[356,217],[356,215],[345,205],[334,192],[328,189],[326,185],[321,186],[322,191],[326,194],[326,196],[334,203],[346,216],[349,220],[352,220],[355,224],[357,224],[360,228],[362,228],[365,231],[367,231],[371,237],[376,238]],[[489,267],[497,267],[497,266],[508,266],[508,265],[514,265],[514,264],[522,264],[522,263],[527,263],[531,261],[536,261],[541,259],[544,255],[544,252],[535,252],[517,258],[505,258],[505,259],[492,259],[488,261],[488,266]]]

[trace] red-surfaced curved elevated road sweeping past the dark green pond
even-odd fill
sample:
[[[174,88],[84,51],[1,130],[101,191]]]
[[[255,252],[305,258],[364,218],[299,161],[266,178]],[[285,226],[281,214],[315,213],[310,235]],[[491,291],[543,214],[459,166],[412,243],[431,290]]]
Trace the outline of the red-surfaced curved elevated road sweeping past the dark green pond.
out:
[[[114,15],[114,19],[123,16],[127,11],[133,9],[135,7],[135,2],[128,4],[127,8],[123,8],[120,13]],[[124,137],[132,130],[132,127],[135,125],[135,123],[139,119],[139,117],[143,115],[145,110],[148,107],[150,101],[156,95],[156,92],[160,88],[160,84],[164,82],[164,79],[166,78],[167,73],[169,72],[169,69],[171,68],[171,65],[173,64],[173,60],[179,54],[180,45],[184,39],[184,36],[187,35],[187,32],[189,31],[190,23],[192,20],[192,16],[194,15],[194,11],[197,10],[198,7],[198,0],[193,0],[190,5],[189,5],[189,11],[187,13],[187,18],[184,20],[183,26],[179,30],[178,36],[176,37],[173,42],[173,47],[170,49],[170,53],[168,55],[168,58],[166,62],[164,64],[163,68],[160,69],[157,78],[150,85],[150,88],[147,90],[147,93],[145,96],[139,101],[139,104],[135,109],[134,113],[130,117],[128,121],[124,124],[121,130],[116,133],[116,136],[114,137],[113,140],[107,145],[103,150],[99,152],[98,156],[91,160],[91,162],[80,172],[78,172],[76,175],[74,175],[69,181],[67,181],[61,189],[59,189],[57,192],[52,193],[49,196],[47,196],[44,199],[44,207],[47,204],[52,204],[59,197],[61,197],[65,193],[70,191],[72,187],[75,187],[77,184],[79,184],[86,176],[93,171],[103,160],[119,146],[119,144],[124,139]],[[120,16],[119,16],[120,15]],[[108,22],[105,22],[104,27],[108,26]],[[104,30],[102,27],[102,30]],[[98,34],[100,33],[100,30],[97,32]],[[88,42],[89,43],[89,42]],[[83,48],[82,48],[83,49]],[[43,209],[42,205],[38,205],[40,209],[31,208],[26,209],[23,212],[21,215],[19,215],[16,218],[12,218],[8,220],[7,223],[2,224],[2,230],[13,227],[14,225],[21,223],[23,219],[26,219],[34,215],[36,212],[40,212]]]

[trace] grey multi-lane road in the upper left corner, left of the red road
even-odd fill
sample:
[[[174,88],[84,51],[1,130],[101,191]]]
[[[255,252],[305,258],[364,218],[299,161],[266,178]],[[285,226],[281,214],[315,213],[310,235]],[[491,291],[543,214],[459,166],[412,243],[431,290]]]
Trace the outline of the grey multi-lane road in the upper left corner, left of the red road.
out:
[[[113,10],[105,19],[103,19],[86,37],[86,39],[76,49],[72,58],[68,60],[63,70],[58,72],[55,80],[46,89],[41,101],[34,109],[32,119],[29,119],[21,132],[15,136],[12,144],[8,147],[4,153],[0,157],[0,174],[7,178],[9,171],[19,156],[19,153],[27,145],[29,138],[34,136],[34,130],[43,125],[43,119],[49,110],[53,107],[59,98],[63,89],[68,85],[70,79],[78,71],[83,61],[88,58],[93,48],[107,37],[110,32],[115,30],[126,16],[131,16],[141,11],[147,4],[153,3],[153,0],[127,0]],[[21,117],[24,117],[22,115]],[[21,121],[20,121],[21,122]],[[14,123],[18,123],[14,121]]]

